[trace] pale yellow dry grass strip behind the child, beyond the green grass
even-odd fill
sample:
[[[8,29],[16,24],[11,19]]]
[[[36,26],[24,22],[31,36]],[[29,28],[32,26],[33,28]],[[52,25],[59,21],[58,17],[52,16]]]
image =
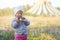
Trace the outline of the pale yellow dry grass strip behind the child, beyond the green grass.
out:
[[[32,17],[26,16],[30,20],[30,26],[40,27],[40,26],[60,26],[60,17]],[[13,16],[0,16],[0,26],[10,26]]]

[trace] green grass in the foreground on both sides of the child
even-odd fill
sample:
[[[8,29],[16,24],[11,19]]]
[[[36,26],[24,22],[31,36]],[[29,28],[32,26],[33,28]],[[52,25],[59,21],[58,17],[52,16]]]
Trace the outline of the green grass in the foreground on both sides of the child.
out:
[[[58,32],[57,35],[55,33],[56,28],[55,28],[55,30],[54,30],[54,28],[53,28],[53,30],[51,28],[52,27],[50,27],[50,28],[49,27],[29,28],[28,40],[60,40],[60,34],[58,34],[60,32],[60,27],[59,27],[59,31],[57,31]],[[1,40],[13,40],[14,31],[8,31],[8,30],[1,31],[0,30],[0,39]]]

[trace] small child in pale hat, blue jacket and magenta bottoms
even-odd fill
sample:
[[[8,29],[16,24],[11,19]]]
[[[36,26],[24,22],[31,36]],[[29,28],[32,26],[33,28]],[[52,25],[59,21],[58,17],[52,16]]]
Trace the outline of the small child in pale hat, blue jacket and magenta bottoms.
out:
[[[14,40],[27,40],[28,28],[30,21],[23,17],[22,6],[14,8],[15,18],[12,20],[12,27],[14,28]]]

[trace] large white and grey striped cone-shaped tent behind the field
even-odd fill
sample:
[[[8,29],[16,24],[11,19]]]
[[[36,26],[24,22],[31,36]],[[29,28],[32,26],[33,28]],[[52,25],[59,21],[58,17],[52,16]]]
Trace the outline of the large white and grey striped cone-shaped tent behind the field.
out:
[[[38,0],[33,7],[31,7],[27,13],[36,15],[55,15],[59,16],[60,12],[55,9],[48,0]]]

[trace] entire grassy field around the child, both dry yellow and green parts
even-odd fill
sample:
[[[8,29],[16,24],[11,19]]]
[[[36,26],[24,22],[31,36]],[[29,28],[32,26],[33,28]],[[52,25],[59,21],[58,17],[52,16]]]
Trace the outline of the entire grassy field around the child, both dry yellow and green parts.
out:
[[[26,16],[30,20],[28,40],[60,40],[60,17]],[[0,16],[0,40],[13,40],[13,16]]]

